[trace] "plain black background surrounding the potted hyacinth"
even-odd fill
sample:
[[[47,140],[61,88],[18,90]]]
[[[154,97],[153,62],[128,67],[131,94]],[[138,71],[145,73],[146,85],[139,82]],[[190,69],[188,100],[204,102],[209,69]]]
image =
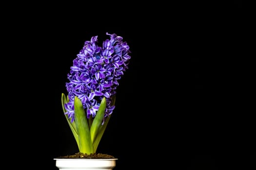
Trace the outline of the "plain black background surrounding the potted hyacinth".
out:
[[[115,170],[255,169],[250,4],[112,4],[16,4],[2,15],[6,156],[58,170],[55,157],[78,152],[60,96],[83,43],[108,32],[132,52],[98,147],[118,158]]]

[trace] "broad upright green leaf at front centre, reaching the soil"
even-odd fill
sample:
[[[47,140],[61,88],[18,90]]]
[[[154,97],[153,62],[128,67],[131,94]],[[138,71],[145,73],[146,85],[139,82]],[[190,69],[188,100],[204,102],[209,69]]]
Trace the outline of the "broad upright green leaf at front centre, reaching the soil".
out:
[[[77,132],[78,132],[78,139],[79,139],[79,152],[87,153],[87,154],[93,153],[93,145],[91,141],[88,120],[87,120],[82,102],[79,100],[77,96],[75,96],[74,108],[75,108],[75,123],[77,127]]]

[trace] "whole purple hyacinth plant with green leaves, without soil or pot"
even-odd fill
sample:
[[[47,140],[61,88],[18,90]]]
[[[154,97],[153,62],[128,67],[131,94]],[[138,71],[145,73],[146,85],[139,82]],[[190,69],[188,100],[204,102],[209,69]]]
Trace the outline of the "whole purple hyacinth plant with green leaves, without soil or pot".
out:
[[[115,108],[118,81],[128,68],[129,46],[117,34],[98,46],[98,36],[85,41],[67,74],[68,95],[61,103],[79,153],[96,153]]]

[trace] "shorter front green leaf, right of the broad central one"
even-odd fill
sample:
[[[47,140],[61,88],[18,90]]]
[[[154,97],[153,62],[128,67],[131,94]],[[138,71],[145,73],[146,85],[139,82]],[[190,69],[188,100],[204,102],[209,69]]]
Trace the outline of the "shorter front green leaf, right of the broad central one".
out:
[[[90,129],[92,143],[94,142],[94,140],[98,134],[98,128],[102,124],[105,110],[106,110],[106,105],[107,105],[106,98],[103,97],[100,102],[97,114],[96,114],[95,118],[93,119],[93,123],[92,123],[91,129]]]

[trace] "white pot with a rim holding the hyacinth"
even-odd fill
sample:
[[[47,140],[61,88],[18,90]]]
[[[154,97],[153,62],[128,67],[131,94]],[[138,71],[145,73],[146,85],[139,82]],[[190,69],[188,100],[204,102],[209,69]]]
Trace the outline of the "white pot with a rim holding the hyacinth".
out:
[[[59,170],[113,170],[117,158],[83,159],[83,158],[55,158]]]

